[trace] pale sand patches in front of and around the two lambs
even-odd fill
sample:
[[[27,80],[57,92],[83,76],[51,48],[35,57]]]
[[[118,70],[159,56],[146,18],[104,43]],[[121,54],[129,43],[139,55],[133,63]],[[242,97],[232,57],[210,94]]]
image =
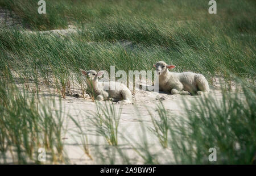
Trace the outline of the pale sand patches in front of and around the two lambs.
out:
[[[19,86],[21,87],[21,85]],[[81,94],[79,87],[71,85],[71,90],[72,94]],[[209,94],[212,94],[216,99],[221,99],[221,91],[218,88],[211,87]],[[42,99],[59,99],[59,95],[56,94],[56,89],[52,87],[40,86],[39,96]],[[152,91],[136,90],[135,95],[133,95],[133,104],[113,103],[117,111],[119,108],[122,108],[121,119],[118,127],[119,148],[128,154],[133,164],[143,164],[142,158],[138,156],[130,144],[133,144],[135,148],[137,148],[138,146],[136,143],[142,144],[143,140],[147,139],[150,151],[154,154],[158,153],[158,160],[161,164],[173,162],[174,158],[172,157],[171,150],[163,150],[158,139],[152,134],[152,132],[148,131],[148,127],[153,127],[148,110],[154,118],[158,118],[155,110],[156,104],[158,104],[160,102],[159,99],[161,99],[166,110],[172,116],[179,118],[179,116],[185,113],[185,108],[182,105],[183,100],[191,102],[200,98],[204,97],[171,95],[163,92],[156,93]],[[93,158],[92,160],[85,154],[82,148],[81,136],[77,135],[75,132],[78,128],[75,123],[67,117],[63,125],[63,129],[66,129],[68,132],[63,134],[63,142],[65,152],[67,152],[67,156],[69,158],[69,164],[108,164],[109,161],[106,158],[108,158],[109,155],[113,156],[111,151],[114,147],[106,143],[105,138],[96,133],[96,127],[92,124],[92,118],[94,118],[93,114],[96,114],[96,103],[93,102],[89,95],[87,95],[86,98],[76,98],[71,95],[67,95],[65,99],[61,100],[61,107],[65,114],[68,114],[77,121],[80,121],[80,125],[83,127],[84,131],[86,131],[90,154]],[[104,105],[105,103],[112,104],[112,102],[102,101],[100,103]],[[147,137],[145,137],[141,131],[141,122],[146,128]],[[164,154],[166,152],[169,153],[168,156]],[[103,159],[100,160],[100,158]],[[115,164],[122,164],[122,158],[117,156]]]

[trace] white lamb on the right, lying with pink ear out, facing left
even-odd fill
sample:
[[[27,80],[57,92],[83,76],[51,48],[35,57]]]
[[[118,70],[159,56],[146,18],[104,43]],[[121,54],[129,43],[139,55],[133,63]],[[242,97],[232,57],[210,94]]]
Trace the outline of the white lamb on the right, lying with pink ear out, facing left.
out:
[[[169,72],[175,65],[167,65],[166,62],[159,61],[153,65],[159,74],[159,90],[171,94],[180,95],[203,95],[209,92],[207,79],[202,74],[183,72]]]

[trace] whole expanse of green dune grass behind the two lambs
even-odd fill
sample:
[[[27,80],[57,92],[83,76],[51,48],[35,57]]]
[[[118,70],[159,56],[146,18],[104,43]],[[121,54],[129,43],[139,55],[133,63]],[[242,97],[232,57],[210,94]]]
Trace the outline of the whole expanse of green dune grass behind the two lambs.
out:
[[[253,1],[218,2],[214,15],[205,1],[47,1],[46,15],[37,14],[37,2],[2,0],[0,6],[35,30],[73,23],[81,32],[60,38],[2,29],[2,57],[31,68],[36,58],[46,82],[48,72],[55,72],[60,93],[67,84],[67,68],[148,70],[159,60],[176,65],[176,72],[203,73],[210,82],[216,75],[232,80],[229,72],[255,78]],[[123,40],[133,47],[117,44]]]

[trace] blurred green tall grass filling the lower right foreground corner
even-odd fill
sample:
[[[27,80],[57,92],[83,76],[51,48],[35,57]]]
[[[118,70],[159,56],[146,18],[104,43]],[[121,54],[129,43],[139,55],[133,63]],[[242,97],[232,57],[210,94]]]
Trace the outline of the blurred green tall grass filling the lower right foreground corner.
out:
[[[185,114],[170,115],[162,103],[156,106],[158,117],[154,117],[151,128],[159,144],[166,148],[160,154],[152,151],[147,141],[145,124],[141,122],[142,137],[138,143],[131,139],[129,145],[142,158],[144,164],[255,164],[255,86],[238,80],[242,89],[232,93],[225,90],[222,99],[212,95],[183,102]],[[162,123],[156,119],[162,120]],[[160,129],[167,121],[164,138]],[[209,149],[216,148],[217,161],[209,161]],[[129,154],[125,155],[133,163]],[[120,161],[119,161],[120,162]],[[119,162],[115,162],[118,163]],[[121,161],[122,162],[122,161]]]

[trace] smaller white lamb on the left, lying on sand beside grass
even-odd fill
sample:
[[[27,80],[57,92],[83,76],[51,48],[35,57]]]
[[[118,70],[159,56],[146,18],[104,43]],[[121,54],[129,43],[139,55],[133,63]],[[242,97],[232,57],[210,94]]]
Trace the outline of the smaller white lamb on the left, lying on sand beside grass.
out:
[[[131,91],[126,85],[121,82],[99,82],[98,77],[101,77],[103,71],[96,72],[95,70],[81,70],[86,76],[86,84],[89,90],[93,90],[97,100],[113,100],[113,102],[122,101],[125,104],[131,104]],[[111,86],[114,86],[110,89]]]

